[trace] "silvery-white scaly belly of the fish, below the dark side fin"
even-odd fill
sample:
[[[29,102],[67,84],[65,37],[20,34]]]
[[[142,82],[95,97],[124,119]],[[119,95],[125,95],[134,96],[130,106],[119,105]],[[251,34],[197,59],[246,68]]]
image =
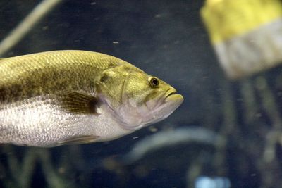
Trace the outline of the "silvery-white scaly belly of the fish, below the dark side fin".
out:
[[[71,137],[89,135],[97,136],[97,142],[101,142],[130,132],[111,118],[103,105],[95,115],[67,113],[40,96],[0,104],[0,143],[53,146]]]

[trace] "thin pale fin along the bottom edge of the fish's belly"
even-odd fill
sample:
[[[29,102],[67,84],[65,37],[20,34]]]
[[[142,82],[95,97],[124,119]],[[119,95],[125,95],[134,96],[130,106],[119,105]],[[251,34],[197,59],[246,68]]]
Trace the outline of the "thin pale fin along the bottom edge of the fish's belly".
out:
[[[78,137],[71,137],[62,142],[58,142],[58,145],[66,145],[66,144],[89,144],[92,142],[96,142],[98,136],[94,135],[81,135]]]

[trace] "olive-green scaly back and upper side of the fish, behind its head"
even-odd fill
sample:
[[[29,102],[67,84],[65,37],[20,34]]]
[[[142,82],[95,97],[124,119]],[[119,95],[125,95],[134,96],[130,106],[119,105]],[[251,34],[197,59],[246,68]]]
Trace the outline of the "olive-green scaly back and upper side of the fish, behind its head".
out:
[[[0,62],[1,101],[16,96],[25,99],[29,97],[28,92],[39,95],[58,89],[93,89],[94,85],[85,85],[85,82],[94,83],[101,70],[125,63],[118,58],[89,51],[43,52],[4,58]]]

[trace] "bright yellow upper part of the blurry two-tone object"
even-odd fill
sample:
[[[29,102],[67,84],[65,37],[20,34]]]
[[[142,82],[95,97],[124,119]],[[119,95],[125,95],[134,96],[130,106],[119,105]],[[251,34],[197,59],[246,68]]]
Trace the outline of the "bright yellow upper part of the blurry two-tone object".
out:
[[[280,0],[207,0],[202,18],[213,43],[281,18]]]

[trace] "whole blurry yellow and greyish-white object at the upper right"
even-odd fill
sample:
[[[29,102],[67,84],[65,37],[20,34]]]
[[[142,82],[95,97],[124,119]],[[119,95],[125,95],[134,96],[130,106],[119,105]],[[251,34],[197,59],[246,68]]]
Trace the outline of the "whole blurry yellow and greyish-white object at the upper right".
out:
[[[280,0],[207,0],[201,15],[228,77],[251,75],[282,61]]]

